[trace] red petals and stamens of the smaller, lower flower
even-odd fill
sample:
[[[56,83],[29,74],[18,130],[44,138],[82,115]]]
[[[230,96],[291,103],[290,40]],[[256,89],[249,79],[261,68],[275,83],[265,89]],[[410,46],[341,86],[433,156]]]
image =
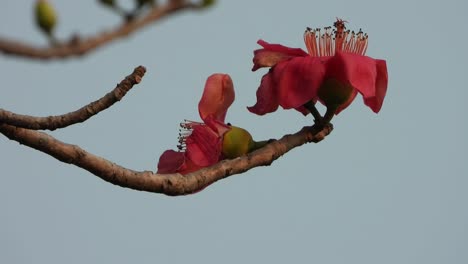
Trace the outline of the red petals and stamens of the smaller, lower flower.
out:
[[[234,101],[234,85],[227,74],[213,74],[206,80],[198,112],[203,122],[180,124],[179,151],[166,150],[159,158],[158,173],[186,174],[217,163],[222,155],[223,135],[230,130],[224,123]]]

